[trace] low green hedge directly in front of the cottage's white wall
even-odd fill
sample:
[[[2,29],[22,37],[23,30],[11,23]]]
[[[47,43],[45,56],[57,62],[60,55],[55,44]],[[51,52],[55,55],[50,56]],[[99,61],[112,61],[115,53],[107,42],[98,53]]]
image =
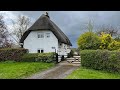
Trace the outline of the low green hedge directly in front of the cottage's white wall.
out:
[[[55,53],[29,53],[22,56],[24,62],[53,62]]]

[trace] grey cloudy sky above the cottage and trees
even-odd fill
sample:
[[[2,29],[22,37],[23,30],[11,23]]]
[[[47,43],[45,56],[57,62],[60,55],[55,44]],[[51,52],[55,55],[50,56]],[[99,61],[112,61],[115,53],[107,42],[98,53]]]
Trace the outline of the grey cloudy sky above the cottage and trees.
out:
[[[11,19],[18,15],[25,15],[31,19],[31,25],[45,11],[0,11],[8,25],[9,32],[12,31]],[[80,34],[87,31],[89,20],[94,25],[94,31],[99,30],[102,25],[120,27],[120,11],[48,11],[50,19],[56,23],[69,37],[73,47],[77,47],[76,40]]]

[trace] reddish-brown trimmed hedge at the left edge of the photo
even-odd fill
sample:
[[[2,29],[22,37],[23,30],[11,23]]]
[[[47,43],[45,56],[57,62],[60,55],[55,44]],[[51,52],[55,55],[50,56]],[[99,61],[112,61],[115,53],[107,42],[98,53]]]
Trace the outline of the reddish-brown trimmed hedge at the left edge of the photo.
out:
[[[27,49],[23,48],[4,48],[0,49],[0,61],[13,60],[20,61],[21,56],[27,53]]]

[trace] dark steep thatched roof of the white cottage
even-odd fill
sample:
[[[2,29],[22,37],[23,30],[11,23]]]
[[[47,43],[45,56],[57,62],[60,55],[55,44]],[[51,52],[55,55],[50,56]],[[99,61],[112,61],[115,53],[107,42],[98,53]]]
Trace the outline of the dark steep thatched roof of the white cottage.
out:
[[[50,30],[57,37],[58,41],[61,43],[65,43],[71,45],[68,37],[61,31],[61,29],[50,20],[47,15],[42,15],[22,36],[20,43],[23,43],[26,37],[29,35],[31,31],[40,31],[40,30]]]

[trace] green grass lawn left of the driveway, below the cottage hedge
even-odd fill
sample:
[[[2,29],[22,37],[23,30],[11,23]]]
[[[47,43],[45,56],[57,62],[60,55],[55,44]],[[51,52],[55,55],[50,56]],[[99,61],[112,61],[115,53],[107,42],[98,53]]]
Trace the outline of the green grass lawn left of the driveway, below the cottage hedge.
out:
[[[53,66],[42,62],[0,62],[0,79],[19,79]]]

